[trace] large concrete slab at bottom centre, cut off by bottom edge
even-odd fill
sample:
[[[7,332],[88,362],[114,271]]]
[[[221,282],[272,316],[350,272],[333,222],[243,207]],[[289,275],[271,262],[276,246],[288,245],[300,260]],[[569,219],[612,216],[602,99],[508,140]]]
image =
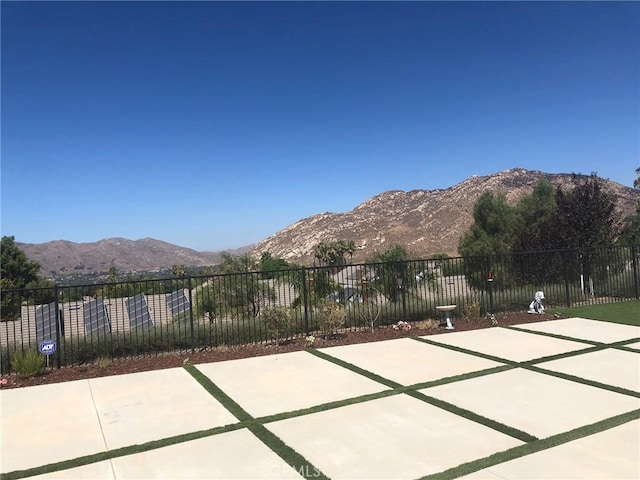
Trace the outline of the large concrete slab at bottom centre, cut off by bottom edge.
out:
[[[266,427],[332,479],[414,479],[522,444],[404,394]]]

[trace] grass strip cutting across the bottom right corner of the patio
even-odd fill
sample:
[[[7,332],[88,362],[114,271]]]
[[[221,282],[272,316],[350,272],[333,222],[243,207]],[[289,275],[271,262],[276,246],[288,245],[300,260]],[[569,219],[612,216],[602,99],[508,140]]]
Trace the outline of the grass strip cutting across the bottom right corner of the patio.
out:
[[[518,445],[517,447],[510,448],[509,450],[494,453],[493,455],[489,455],[488,457],[473,460],[471,462],[463,463],[461,465],[458,465],[457,467],[452,467],[442,472],[425,475],[419,480],[452,480],[464,475],[469,475],[479,470],[484,470],[485,468],[489,468],[494,465],[498,465],[499,463],[515,460],[517,458],[531,455],[532,453],[537,453],[549,448],[557,447],[559,445],[563,445],[565,443],[572,442],[574,440],[578,440],[595,433],[604,432],[605,430],[618,427],[639,418],[640,409],[633,410],[631,412],[600,420],[590,425],[584,425],[582,427],[569,430],[568,432],[552,435],[541,440],[536,440],[535,442],[525,443],[524,445]]]

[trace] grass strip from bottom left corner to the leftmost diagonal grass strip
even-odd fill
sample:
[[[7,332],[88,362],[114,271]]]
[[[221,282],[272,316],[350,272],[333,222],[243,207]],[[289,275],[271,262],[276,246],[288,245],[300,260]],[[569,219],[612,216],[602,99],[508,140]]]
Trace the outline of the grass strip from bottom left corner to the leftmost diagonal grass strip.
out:
[[[178,443],[189,442],[191,440],[198,440],[200,438],[210,437],[212,435],[218,435],[220,433],[233,432],[234,430],[239,430],[241,428],[244,428],[244,425],[242,425],[241,423],[233,423],[233,424],[224,425],[221,427],[209,428],[207,430],[199,430],[197,432],[183,433],[180,435],[175,435],[173,437],[167,437],[160,440],[152,440],[150,442],[145,442],[138,445],[129,445],[126,447],[108,450],[106,452],[94,453],[91,455],[84,455],[82,457],[77,457],[70,460],[62,460],[60,462],[41,465],[39,467],[27,468],[24,470],[14,470],[13,472],[7,472],[7,473],[0,473],[0,479],[14,480],[19,478],[33,477],[35,475],[42,475],[46,473],[53,473],[60,470],[67,470],[69,468],[89,465],[91,463],[111,460],[112,458],[118,458],[118,457],[124,457],[127,455],[134,455],[136,453],[148,452],[149,450],[155,450],[157,448],[176,445]]]

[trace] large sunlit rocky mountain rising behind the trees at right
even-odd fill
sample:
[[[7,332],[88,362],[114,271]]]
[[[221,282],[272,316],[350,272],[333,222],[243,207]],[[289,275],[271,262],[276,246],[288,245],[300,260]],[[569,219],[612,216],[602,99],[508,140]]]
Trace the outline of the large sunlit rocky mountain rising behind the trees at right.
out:
[[[353,240],[362,261],[390,244],[405,245],[421,257],[436,253],[457,254],[458,241],[473,223],[473,206],[485,191],[504,194],[517,203],[540,180],[571,188],[571,174],[549,174],[521,168],[488,176],[474,175],[445,190],[389,191],[361,203],[346,213],[321,213],[302,219],[277,232],[252,250],[255,256],[271,252],[302,264],[313,263],[313,249],[321,241]],[[605,181],[623,215],[630,215],[640,192]]]

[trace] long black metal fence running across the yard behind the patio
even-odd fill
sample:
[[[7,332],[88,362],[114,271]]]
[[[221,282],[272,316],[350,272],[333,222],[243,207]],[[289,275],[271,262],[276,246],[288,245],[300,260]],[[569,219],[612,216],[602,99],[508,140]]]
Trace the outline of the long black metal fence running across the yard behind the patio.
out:
[[[195,352],[400,320],[526,311],[640,298],[640,248],[611,247],[293,268],[1,291],[0,368],[55,341],[57,367]]]

